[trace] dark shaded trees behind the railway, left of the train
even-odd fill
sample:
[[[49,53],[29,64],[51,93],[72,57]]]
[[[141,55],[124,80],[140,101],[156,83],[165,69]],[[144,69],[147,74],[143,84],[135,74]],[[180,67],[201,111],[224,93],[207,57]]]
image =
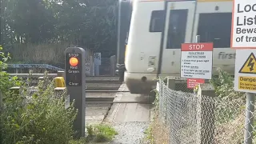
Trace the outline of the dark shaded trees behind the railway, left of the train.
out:
[[[115,54],[117,0],[1,1],[2,45],[14,62],[59,65],[67,46]]]

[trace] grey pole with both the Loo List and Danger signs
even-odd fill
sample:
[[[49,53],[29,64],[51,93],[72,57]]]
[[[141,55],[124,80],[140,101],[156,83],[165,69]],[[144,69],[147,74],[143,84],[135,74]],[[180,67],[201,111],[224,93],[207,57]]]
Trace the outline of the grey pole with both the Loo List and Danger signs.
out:
[[[256,4],[254,0],[234,0],[231,48],[236,50],[234,90],[246,92],[245,143],[253,139],[256,93]],[[239,49],[239,50],[238,50]],[[247,50],[246,50],[247,49]],[[242,55],[244,54],[244,55]]]

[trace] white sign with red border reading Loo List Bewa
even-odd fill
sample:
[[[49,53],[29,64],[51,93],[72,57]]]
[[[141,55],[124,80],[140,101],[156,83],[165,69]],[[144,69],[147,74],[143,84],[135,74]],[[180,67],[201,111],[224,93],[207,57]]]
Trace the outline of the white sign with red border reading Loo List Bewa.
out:
[[[256,48],[255,0],[234,0],[231,47]]]

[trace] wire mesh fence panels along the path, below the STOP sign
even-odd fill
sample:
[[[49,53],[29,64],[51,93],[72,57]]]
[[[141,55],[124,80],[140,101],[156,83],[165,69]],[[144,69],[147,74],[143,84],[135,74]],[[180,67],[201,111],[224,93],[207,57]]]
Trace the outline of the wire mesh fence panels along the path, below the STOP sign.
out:
[[[182,86],[171,90],[164,81],[158,82],[158,118],[168,129],[170,144],[244,143],[248,108],[242,98],[198,96],[180,91],[182,88],[186,89]],[[256,132],[255,128],[252,126],[249,136]]]

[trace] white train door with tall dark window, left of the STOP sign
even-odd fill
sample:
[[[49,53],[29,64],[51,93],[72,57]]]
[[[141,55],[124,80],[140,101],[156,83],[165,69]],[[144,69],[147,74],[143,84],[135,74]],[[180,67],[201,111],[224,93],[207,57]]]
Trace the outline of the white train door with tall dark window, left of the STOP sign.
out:
[[[167,2],[161,75],[179,75],[181,44],[191,41],[195,1]]]

